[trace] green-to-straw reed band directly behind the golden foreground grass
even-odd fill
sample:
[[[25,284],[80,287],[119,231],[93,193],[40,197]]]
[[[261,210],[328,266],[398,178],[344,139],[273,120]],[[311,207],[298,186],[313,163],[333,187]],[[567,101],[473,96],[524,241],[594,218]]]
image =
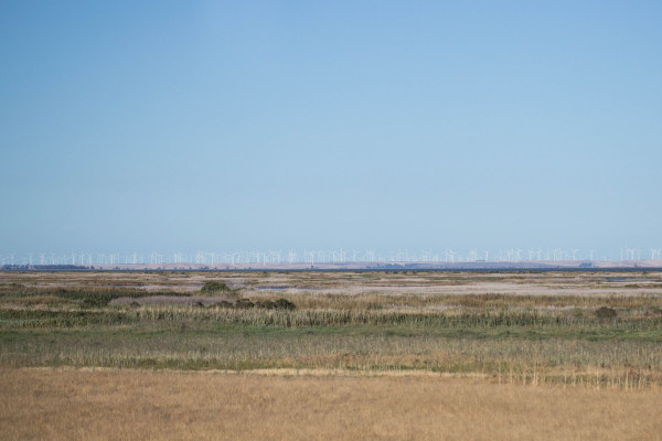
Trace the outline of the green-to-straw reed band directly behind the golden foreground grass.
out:
[[[662,347],[655,341],[448,338],[373,327],[317,334],[241,326],[23,331],[4,336],[0,361],[13,367],[414,369],[480,374],[499,383],[662,385]]]

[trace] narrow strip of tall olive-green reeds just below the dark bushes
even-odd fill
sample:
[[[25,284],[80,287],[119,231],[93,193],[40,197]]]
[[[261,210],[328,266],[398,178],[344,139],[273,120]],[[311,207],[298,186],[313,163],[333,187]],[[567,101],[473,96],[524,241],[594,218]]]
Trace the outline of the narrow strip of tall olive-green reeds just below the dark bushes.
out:
[[[148,322],[197,322],[248,326],[396,325],[405,327],[573,327],[579,330],[662,331],[662,316],[601,320],[573,311],[535,309],[384,311],[384,310],[237,310],[201,306],[140,306],[106,309],[0,308],[0,326],[71,327]]]

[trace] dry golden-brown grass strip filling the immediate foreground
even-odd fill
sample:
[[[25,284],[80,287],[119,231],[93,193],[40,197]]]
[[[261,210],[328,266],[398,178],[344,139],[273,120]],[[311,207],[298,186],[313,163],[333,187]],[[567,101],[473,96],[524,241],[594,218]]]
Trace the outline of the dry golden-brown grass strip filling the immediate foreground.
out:
[[[434,375],[0,370],[3,439],[653,440],[660,402]]]

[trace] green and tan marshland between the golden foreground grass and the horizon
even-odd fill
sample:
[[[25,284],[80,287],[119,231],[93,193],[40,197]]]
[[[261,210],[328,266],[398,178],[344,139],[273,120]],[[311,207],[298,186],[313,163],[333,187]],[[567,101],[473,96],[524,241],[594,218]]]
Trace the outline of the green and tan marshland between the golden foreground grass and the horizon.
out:
[[[637,290],[595,273],[0,276],[0,366],[662,385],[659,275]]]

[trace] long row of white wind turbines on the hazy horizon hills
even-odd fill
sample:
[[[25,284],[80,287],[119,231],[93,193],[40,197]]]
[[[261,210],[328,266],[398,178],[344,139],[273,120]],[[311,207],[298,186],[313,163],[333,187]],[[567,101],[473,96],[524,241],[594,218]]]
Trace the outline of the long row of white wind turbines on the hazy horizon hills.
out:
[[[298,268],[320,266],[356,266],[356,265],[389,265],[389,263],[424,263],[438,265],[480,265],[480,263],[522,263],[522,265],[564,265],[574,266],[661,266],[662,248],[622,247],[616,254],[605,256],[595,250],[576,248],[542,249],[542,248],[498,248],[456,250],[409,251],[398,249],[378,252],[374,249],[303,249],[303,250],[248,250],[248,251],[196,251],[196,252],[34,252],[28,255],[7,254],[0,255],[0,267],[46,267],[46,266],[74,266],[100,267],[114,266],[150,266],[152,268],[178,268],[178,266],[195,265],[196,268],[248,268],[256,267],[287,267]]]

